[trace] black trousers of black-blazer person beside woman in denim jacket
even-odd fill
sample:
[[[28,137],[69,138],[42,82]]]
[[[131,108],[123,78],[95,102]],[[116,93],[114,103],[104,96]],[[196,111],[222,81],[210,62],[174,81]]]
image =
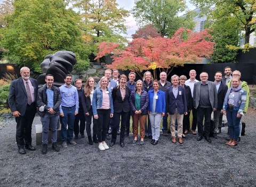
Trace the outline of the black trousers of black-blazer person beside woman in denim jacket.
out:
[[[127,123],[128,115],[129,115],[129,112],[121,112],[121,113],[114,112],[114,126],[112,130],[111,142],[116,142],[117,129],[119,127],[120,117],[121,117],[120,143],[124,142],[125,126]]]

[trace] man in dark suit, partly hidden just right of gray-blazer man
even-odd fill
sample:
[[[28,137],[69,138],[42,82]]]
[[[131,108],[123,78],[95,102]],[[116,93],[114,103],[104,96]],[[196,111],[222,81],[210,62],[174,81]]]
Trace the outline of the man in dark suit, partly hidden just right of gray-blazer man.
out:
[[[221,129],[222,126],[222,116],[221,111],[224,103],[224,99],[228,90],[228,86],[222,83],[222,73],[217,71],[214,76],[214,83],[217,89],[217,97],[218,97],[218,106],[216,111],[213,112],[213,119],[214,119],[214,130],[213,130],[213,137],[218,139],[217,130]]]

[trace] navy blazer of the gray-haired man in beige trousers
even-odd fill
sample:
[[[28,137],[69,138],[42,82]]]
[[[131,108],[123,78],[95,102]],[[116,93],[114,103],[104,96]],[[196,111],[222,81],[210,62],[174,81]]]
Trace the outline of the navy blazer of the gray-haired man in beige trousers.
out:
[[[170,115],[173,115],[175,114],[176,108],[180,115],[184,114],[185,112],[188,112],[185,88],[181,87],[180,85],[178,86],[177,98],[174,97],[172,88],[173,86],[171,86],[165,91],[166,112]]]

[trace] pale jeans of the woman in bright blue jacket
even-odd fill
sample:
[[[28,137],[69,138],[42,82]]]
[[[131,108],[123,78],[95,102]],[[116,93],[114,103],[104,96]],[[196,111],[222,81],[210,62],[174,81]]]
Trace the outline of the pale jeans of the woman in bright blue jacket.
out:
[[[149,119],[151,123],[152,139],[158,140],[160,137],[160,123],[162,121],[162,113],[150,112]]]

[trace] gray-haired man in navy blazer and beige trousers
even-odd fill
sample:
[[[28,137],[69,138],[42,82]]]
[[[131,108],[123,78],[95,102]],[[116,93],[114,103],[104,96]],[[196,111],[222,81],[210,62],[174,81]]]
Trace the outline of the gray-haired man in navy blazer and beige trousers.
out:
[[[166,95],[166,112],[171,115],[171,134],[172,142],[176,143],[175,138],[175,123],[178,123],[178,141],[183,143],[182,131],[183,131],[183,115],[188,114],[186,90],[184,87],[179,86],[179,76],[172,75],[172,86],[165,92]]]

